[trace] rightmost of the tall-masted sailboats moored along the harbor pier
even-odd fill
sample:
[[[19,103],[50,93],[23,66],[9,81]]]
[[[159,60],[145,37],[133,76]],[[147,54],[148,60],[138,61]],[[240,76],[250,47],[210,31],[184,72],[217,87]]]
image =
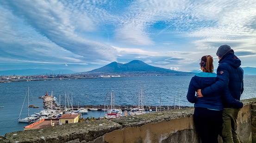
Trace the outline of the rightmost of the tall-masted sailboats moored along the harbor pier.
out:
[[[144,92],[143,88],[141,88],[141,94],[138,94],[138,108],[132,109],[129,114],[135,115],[144,113],[146,113],[144,109]]]

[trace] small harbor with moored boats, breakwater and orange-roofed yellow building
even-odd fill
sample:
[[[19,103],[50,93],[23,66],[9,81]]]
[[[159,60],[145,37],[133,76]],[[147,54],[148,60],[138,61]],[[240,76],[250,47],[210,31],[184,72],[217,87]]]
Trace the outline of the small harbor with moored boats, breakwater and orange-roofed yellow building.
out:
[[[143,93],[143,92],[141,92]],[[50,126],[58,126],[62,124],[69,124],[69,123],[77,123],[77,122],[84,122],[85,120],[100,120],[100,119],[111,119],[111,118],[119,118],[122,116],[128,116],[128,115],[136,115],[136,114],[145,114],[149,112],[157,112],[157,111],[163,111],[163,110],[170,110],[170,109],[183,109],[188,108],[187,106],[144,106],[143,101],[141,101],[141,105],[138,104],[138,106],[115,106],[113,103],[114,101],[114,92],[111,92],[111,105],[99,105],[99,106],[93,106],[93,105],[82,105],[82,106],[73,106],[73,100],[70,102],[70,100],[67,100],[67,102],[71,103],[71,106],[68,105],[68,107],[57,105],[56,101],[54,100],[53,92],[51,92],[51,95],[46,94],[44,96],[38,97],[43,99],[44,103],[44,110],[41,110],[39,113],[35,113],[30,115],[29,114],[29,108],[35,108],[34,105],[28,105],[28,115],[27,117],[20,119],[19,122],[25,122],[29,123],[28,126],[24,127],[24,130],[32,130],[32,129],[40,129],[44,127],[50,127]],[[143,94],[141,94],[143,95]],[[29,101],[29,87],[27,90],[27,94],[25,96],[28,98]],[[139,96],[142,97],[142,96]],[[72,98],[72,97],[71,97]],[[25,103],[24,99],[24,103]],[[69,96],[65,95],[65,100],[69,99]],[[73,98],[72,98],[73,99]],[[141,98],[143,99],[143,98]],[[140,99],[139,99],[140,100]],[[23,105],[24,105],[23,103]],[[65,102],[66,103],[66,102]],[[139,101],[140,103],[140,101]],[[28,102],[29,104],[29,102]],[[37,108],[37,107],[36,107]],[[39,108],[39,107],[38,107]],[[82,114],[87,114],[88,110],[90,112],[99,112],[100,114],[103,111],[104,117],[92,117],[89,118],[83,118]],[[147,112],[145,112],[145,110]],[[153,111],[154,110],[154,111]],[[124,111],[124,114],[123,112]],[[22,109],[21,109],[22,112]],[[102,112],[102,114],[103,114]]]

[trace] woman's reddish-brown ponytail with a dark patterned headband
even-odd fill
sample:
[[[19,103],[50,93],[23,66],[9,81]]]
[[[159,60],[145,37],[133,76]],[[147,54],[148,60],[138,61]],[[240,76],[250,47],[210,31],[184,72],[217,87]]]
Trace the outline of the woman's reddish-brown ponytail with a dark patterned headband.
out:
[[[200,66],[203,67],[203,72],[213,73],[213,58],[210,55],[201,58]]]

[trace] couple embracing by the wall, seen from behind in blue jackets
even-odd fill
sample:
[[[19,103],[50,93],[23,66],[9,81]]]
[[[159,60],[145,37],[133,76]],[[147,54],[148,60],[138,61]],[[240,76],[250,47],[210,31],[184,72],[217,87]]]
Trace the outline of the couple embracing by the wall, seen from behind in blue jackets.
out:
[[[194,103],[194,124],[201,143],[218,143],[218,135],[223,143],[240,143],[236,130],[238,111],[243,107],[244,71],[230,46],[220,46],[216,54],[217,74],[213,73],[212,56],[203,56],[202,72],[191,79],[187,100]]]

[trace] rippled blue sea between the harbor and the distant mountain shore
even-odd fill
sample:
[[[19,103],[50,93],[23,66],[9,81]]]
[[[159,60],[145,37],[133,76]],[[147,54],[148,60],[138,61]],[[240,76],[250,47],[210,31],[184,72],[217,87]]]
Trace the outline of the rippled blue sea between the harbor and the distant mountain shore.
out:
[[[73,97],[73,105],[104,105],[107,92],[115,93],[115,105],[137,105],[137,95],[144,91],[144,105],[193,106],[187,101],[187,88],[193,76],[141,76],[111,77],[97,79],[40,80],[0,83],[0,136],[8,132],[23,131],[28,123],[18,122],[27,116],[25,99],[29,87],[29,114],[43,109],[43,99],[38,98],[53,93],[56,103],[65,105],[65,94]],[[256,75],[244,75],[244,93],[241,99],[255,97]],[[106,101],[105,101],[106,102]],[[87,117],[103,117],[100,111],[88,111]]]

